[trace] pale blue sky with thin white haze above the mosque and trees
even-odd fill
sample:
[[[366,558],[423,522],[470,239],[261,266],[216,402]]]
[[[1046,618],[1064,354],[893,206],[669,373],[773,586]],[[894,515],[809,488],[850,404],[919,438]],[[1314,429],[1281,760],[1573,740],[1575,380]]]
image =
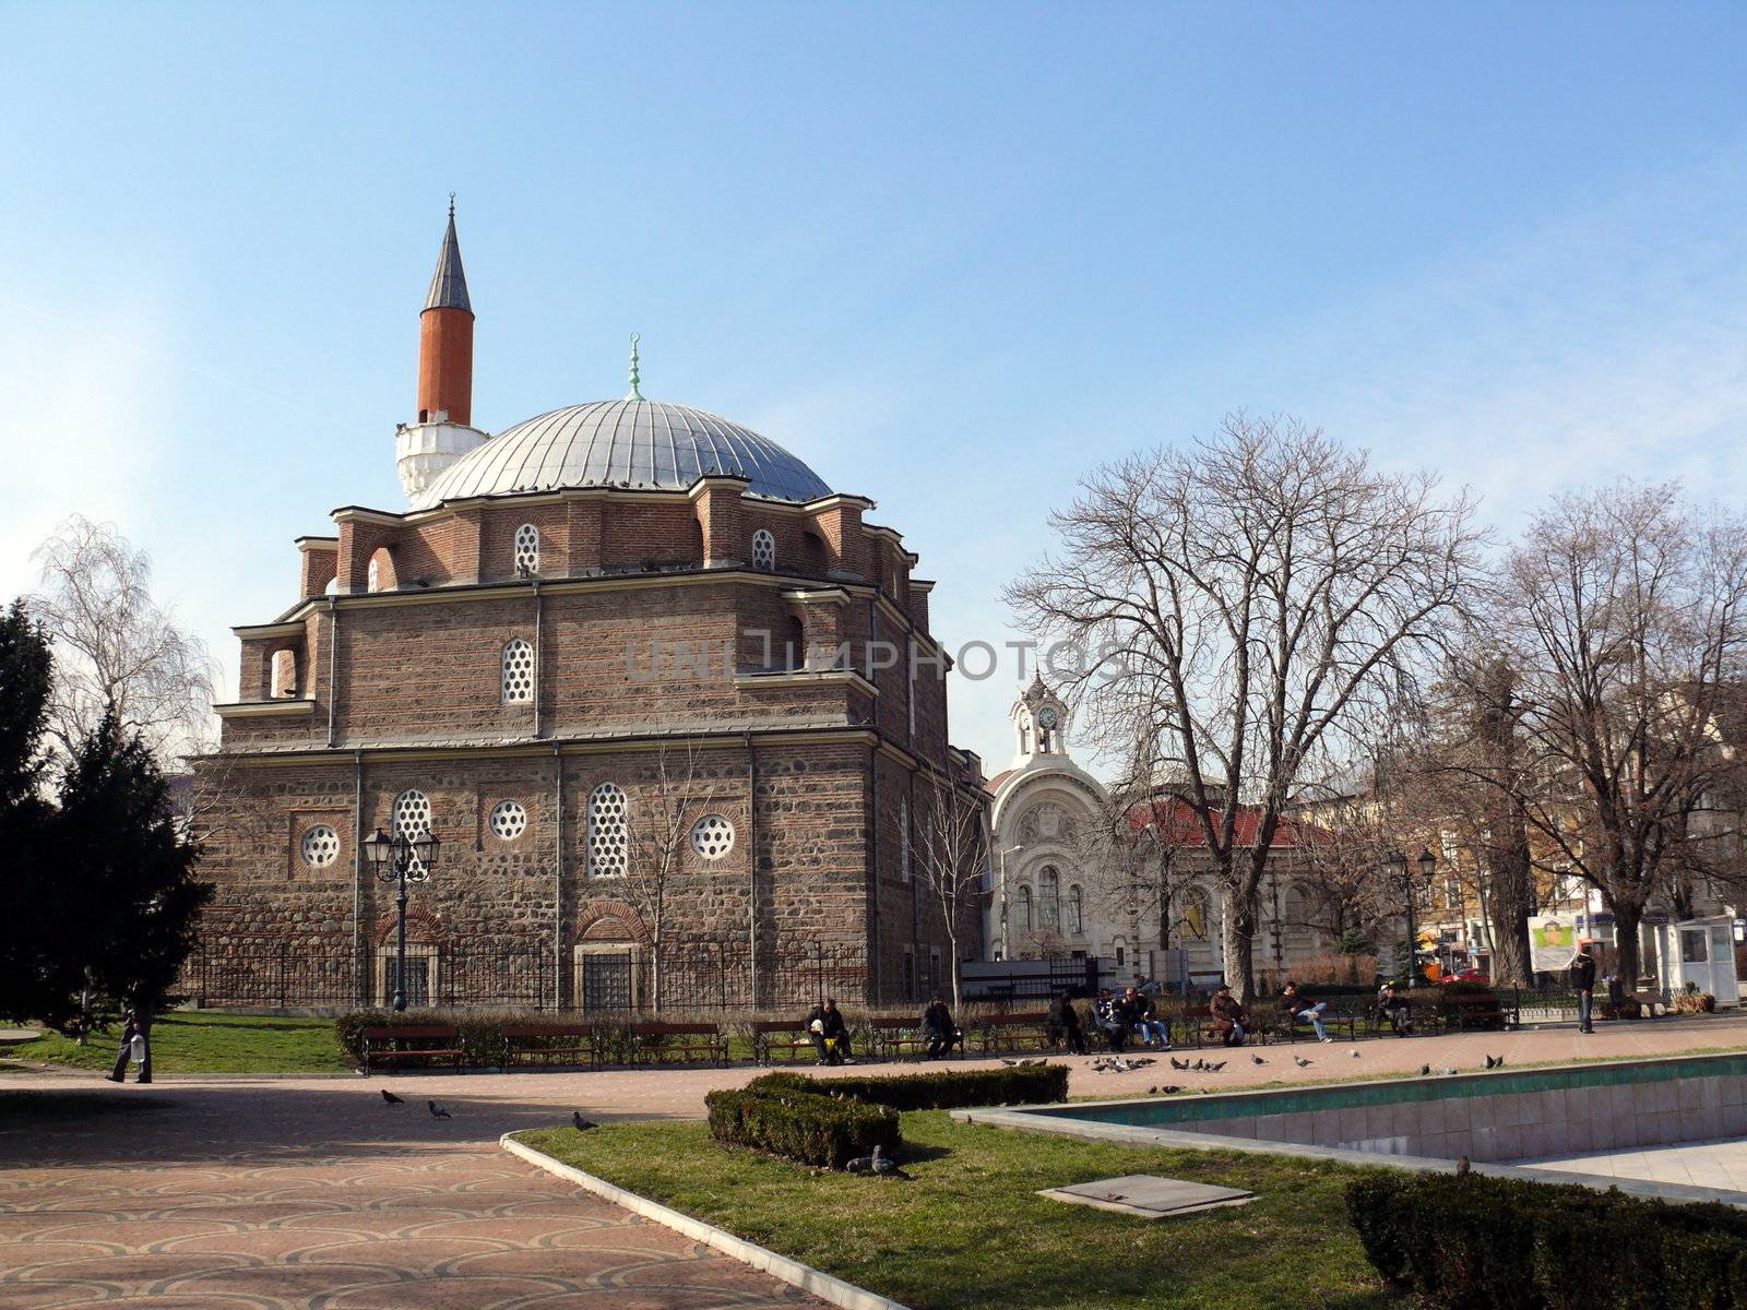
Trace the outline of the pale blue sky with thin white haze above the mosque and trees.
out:
[[[459,192],[475,421],[645,393],[879,501],[949,643],[1090,463],[1291,410],[1744,500],[1747,7],[0,0],[0,596],[72,512],[236,676],[402,505]],[[1012,679],[954,739],[1012,753]]]

